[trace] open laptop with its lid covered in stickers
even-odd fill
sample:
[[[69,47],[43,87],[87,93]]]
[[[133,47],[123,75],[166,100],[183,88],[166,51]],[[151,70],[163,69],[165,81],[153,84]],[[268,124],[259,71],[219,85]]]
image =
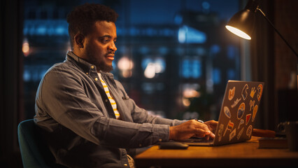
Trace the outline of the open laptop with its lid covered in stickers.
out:
[[[253,133],[264,83],[229,80],[222,101],[215,138],[187,139],[189,146],[220,146],[248,141]]]

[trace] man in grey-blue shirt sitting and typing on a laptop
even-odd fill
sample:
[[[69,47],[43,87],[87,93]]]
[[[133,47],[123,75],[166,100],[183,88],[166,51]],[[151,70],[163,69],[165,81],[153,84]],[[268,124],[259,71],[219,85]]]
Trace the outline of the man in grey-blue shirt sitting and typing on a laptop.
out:
[[[133,167],[127,153],[134,155],[134,148],[214,137],[213,120],[156,118],[129,99],[110,73],[117,18],[114,10],[98,4],[86,3],[69,13],[72,51],[45,73],[38,87],[34,121],[60,165]]]

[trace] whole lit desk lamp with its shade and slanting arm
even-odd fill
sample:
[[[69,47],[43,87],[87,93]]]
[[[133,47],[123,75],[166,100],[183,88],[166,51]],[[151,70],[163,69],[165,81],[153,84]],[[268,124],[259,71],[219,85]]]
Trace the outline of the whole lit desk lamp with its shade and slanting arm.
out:
[[[250,40],[251,34],[253,34],[253,28],[255,27],[255,13],[257,11],[260,11],[264,18],[269,22],[269,24],[274,28],[276,33],[281,36],[283,41],[285,41],[285,38],[281,35],[281,33],[274,27],[272,22],[267,18],[267,16],[263,13],[263,11],[260,9],[259,4],[257,3],[257,0],[249,0],[246,4],[246,8],[243,10],[240,10],[238,13],[236,13],[227,23],[225,26],[229,31],[231,31],[233,34],[236,34],[237,36],[240,36],[241,38],[245,38],[247,40]],[[297,52],[290,46],[288,41],[285,41],[285,43],[288,45],[288,47],[294,52],[296,57],[298,58]],[[297,64],[297,87],[298,87],[298,64]]]

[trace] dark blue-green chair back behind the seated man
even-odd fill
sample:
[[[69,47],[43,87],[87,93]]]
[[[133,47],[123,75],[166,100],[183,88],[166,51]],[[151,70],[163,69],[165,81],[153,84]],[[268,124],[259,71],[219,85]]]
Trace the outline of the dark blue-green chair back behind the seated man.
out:
[[[17,127],[22,162],[26,167],[64,167],[54,162],[54,156],[45,145],[33,119],[22,121]]]

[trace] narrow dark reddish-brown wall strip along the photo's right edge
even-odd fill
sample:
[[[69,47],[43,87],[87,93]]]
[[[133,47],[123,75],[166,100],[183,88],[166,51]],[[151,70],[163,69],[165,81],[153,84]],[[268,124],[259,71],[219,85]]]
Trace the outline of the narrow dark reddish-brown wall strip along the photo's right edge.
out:
[[[276,29],[298,53],[298,1],[276,0],[274,16]],[[275,90],[278,121],[298,120],[297,57],[278,34],[274,34]]]

